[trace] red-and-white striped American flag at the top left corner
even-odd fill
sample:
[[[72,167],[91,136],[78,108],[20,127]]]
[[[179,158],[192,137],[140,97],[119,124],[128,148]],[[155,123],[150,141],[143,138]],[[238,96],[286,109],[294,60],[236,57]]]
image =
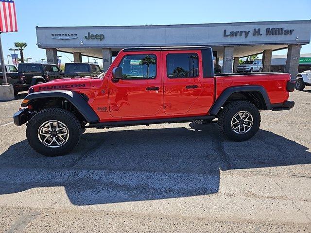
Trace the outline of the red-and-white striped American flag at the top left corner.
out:
[[[17,32],[14,0],[0,0],[0,31]]]

